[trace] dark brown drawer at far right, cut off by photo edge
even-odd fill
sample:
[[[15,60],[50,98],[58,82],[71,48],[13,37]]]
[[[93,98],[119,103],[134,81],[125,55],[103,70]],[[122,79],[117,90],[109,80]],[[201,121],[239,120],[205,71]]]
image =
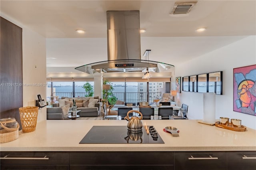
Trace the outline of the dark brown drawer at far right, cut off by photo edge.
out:
[[[255,151],[228,152],[228,170],[256,170]]]

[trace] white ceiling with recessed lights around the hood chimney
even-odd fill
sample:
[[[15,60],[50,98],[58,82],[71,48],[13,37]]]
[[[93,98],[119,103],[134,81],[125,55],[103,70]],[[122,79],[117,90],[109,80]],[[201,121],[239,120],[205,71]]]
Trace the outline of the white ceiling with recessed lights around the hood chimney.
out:
[[[47,67],[78,67],[107,60],[107,10],[140,10],[140,28],[146,29],[141,34],[141,53],[151,49],[150,60],[165,62],[168,58],[173,65],[256,35],[255,0],[199,0],[189,14],[172,16],[174,3],[1,0],[0,12],[47,38]],[[207,29],[197,33],[200,27]],[[86,34],[77,34],[77,29]]]

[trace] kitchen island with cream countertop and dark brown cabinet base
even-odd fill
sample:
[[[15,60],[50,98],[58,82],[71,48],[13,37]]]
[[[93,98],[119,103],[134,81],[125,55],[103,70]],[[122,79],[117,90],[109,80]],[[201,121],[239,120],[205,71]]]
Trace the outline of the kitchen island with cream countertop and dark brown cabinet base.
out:
[[[125,169],[127,166],[135,169],[198,169],[199,163],[210,165],[209,161],[214,163],[212,169],[226,170],[239,166],[247,169],[245,165],[248,165],[248,169],[254,168],[255,159],[250,157],[256,157],[256,130],[247,128],[245,132],[237,132],[200,124],[197,120],[142,122],[143,125],[153,125],[164,144],[79,144],[93,126],[126,126],[127,121],[48,120],[38,123],[34,132],[20,131],[18,139],[2,143],[1,158],[5,154],[15,153],[19,156],[28,154],[26,157],[45,154],[46,157],[52,155],[53,158],[49,160],[54,160],[54,155],[57,155],[58,159],[61,155],[64,157],[62,162],[48,164],[58,164],[63,166],[63,169]],[[178,128],[179,137],[164,132],[163,128],[168,126]],[[242,158],[244,156],[250,159]],[[127,160],[128,157],[132,158]],[[201,157],[206,160],[193,161],[193,158]],[[240,162],[241,160],[244,162]],[[1,159],[1,169],[14,166],[13,164],[13,160],[8,162]],[[24,164],[24,161],[16,164]],[[43,163],[39,161],[34,164]],[[211,169],[210,167],[208,169]]]

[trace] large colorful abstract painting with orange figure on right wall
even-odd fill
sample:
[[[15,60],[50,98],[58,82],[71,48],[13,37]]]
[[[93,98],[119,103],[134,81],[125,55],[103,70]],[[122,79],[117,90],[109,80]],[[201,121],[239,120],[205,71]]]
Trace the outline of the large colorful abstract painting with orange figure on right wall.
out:
[[[233,69],[233,110],[256,116],[256,65]]]

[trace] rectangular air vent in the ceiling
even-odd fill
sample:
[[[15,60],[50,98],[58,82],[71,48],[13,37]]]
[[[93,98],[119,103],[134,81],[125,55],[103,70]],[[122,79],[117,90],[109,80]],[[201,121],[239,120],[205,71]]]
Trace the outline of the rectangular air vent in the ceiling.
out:
[[[196,3],[197,2],[177,2],[174,4],[170,14],[188,14],[188,12],[190,12],[191,8],[193,8]]]

